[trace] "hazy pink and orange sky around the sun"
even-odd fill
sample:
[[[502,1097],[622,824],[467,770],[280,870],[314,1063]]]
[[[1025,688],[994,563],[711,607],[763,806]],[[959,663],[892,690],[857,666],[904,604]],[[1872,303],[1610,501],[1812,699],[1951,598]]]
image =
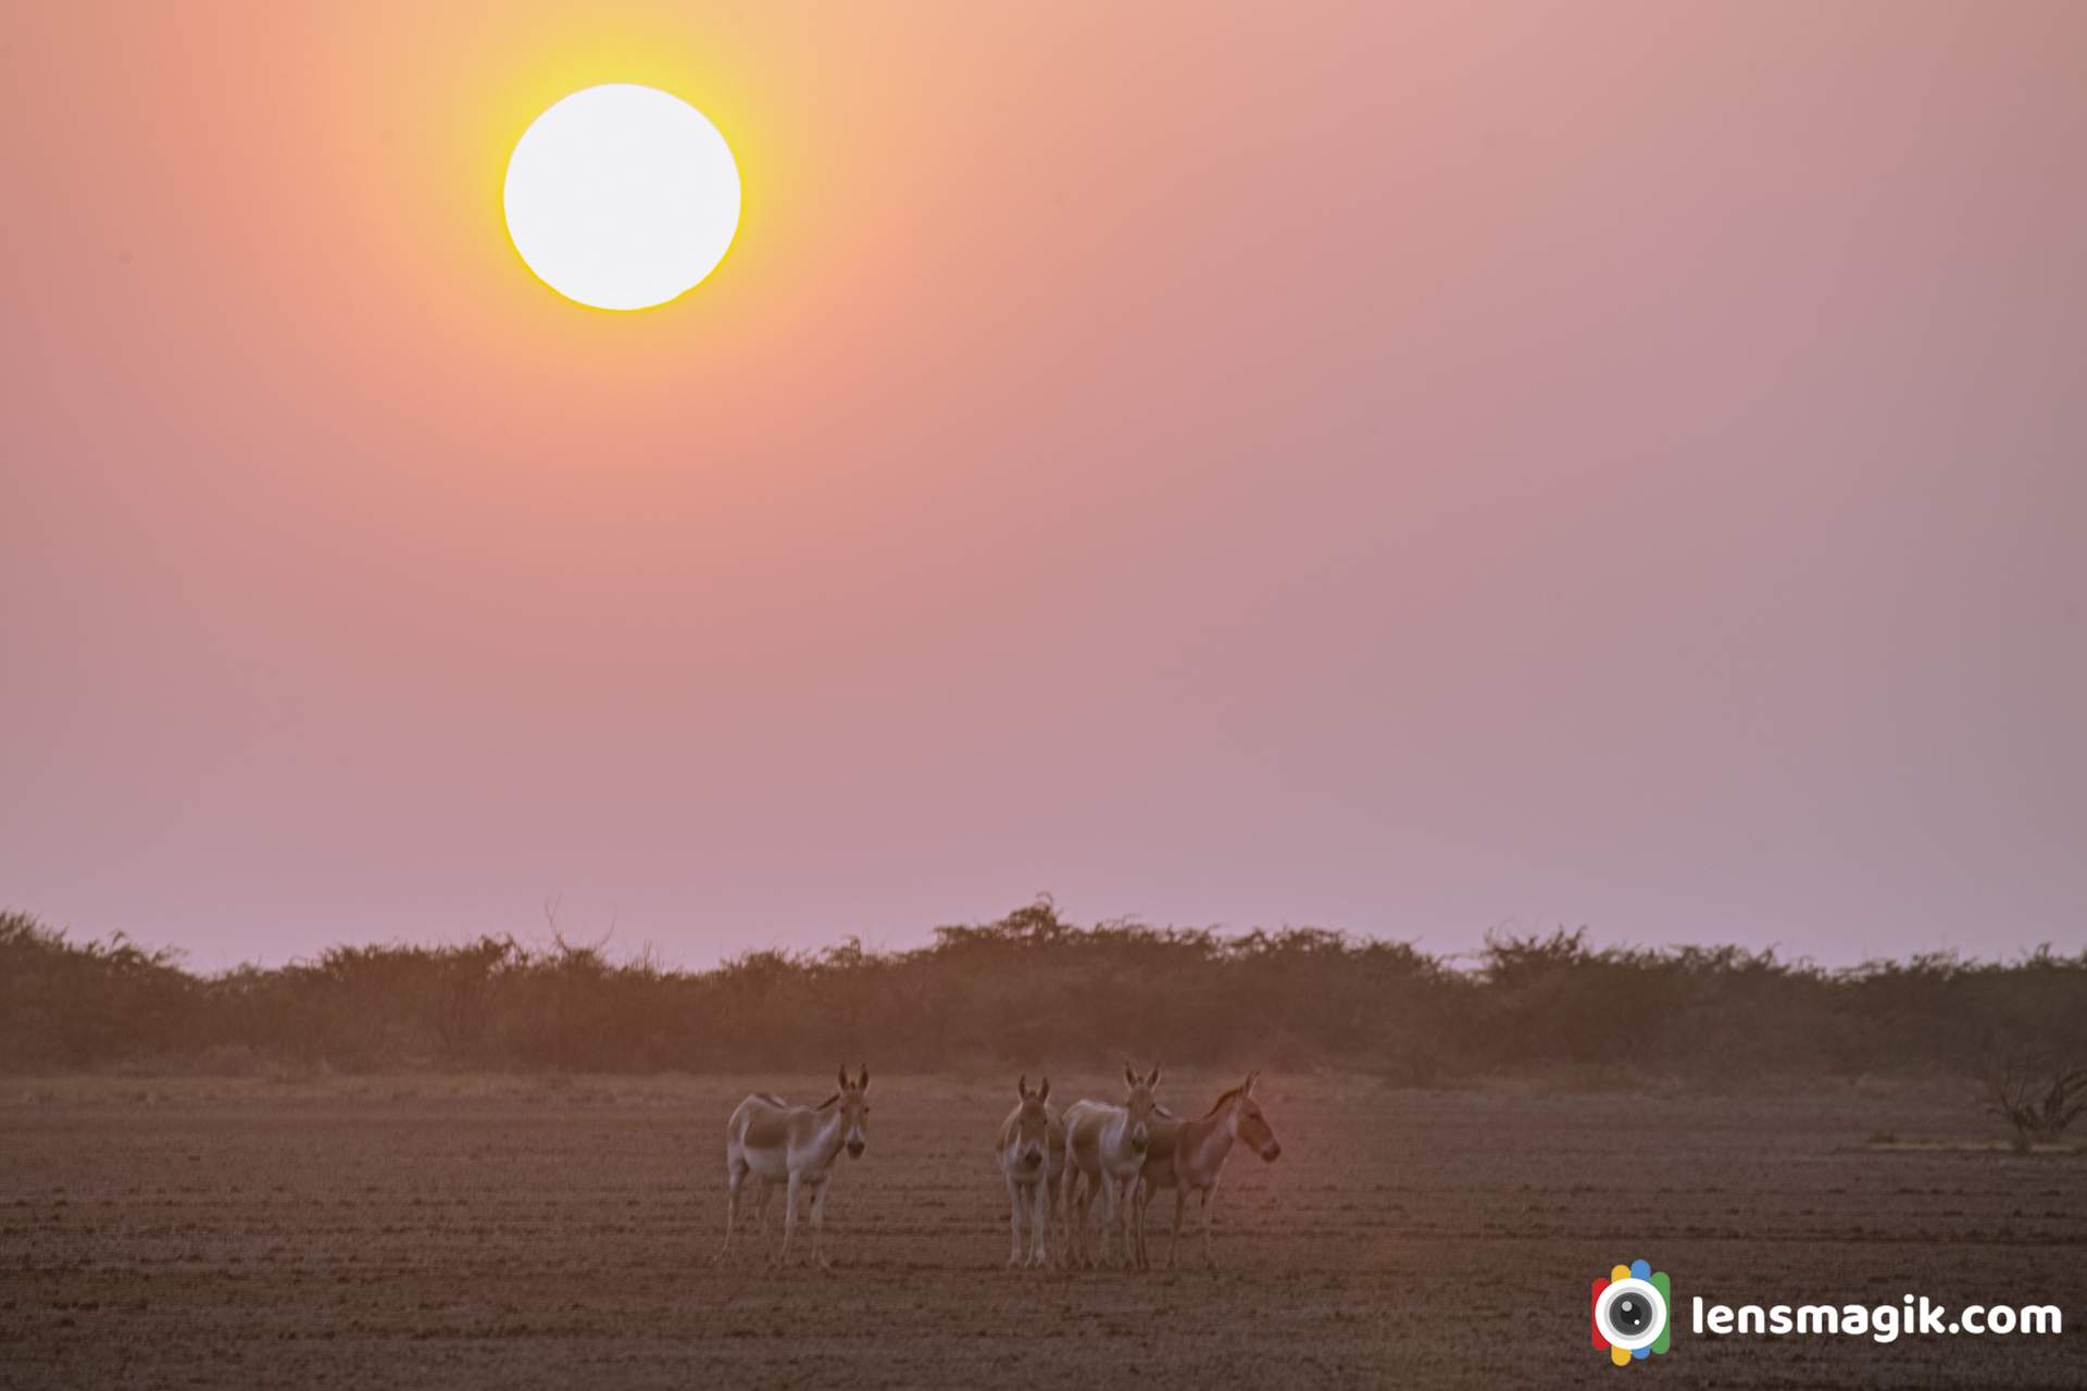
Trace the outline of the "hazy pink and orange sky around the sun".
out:
[[[499,217],[624,79],[747,175],[634,317]],[[2087,945],[2087,6],[44,4],[0,119],[0,903]]]

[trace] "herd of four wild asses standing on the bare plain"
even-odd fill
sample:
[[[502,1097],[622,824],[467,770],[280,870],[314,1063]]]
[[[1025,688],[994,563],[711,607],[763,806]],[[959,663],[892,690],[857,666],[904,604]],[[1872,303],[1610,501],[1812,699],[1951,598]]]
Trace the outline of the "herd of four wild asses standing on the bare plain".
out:
[[[1000,1176],[1008,1185],[1008,1226],[1014,1235],[1010,1266],[1048,1266],[1050,1228],[1058,1228],[1058,1260],[1064,1266],[1110,1264],[1108,1233],[1117,1233],[1119,1262],[1150,1270],[1146,1251],[1146,1207],[1160,1189],[1175,1193],[1173,1239],[1167,1245],[1167,1266],[1175,1264],[1181,1245],[1181,1214],[1188,1195],[1202,1199],[1202,1260],[1215,1266],[1210,1253],[1210,1222],[1215,1220],[1217,1180],[1225,1172],[1236,1143],[1246,1143],[1263,1160],[1275,1160],[1281,1145],[1269,1118],[1254,1101],[1254,1078],[1223,1093],[1198,1120],[1181,1120],[1156,1099],[1160,1070],[1140,1076],[1123,1064],[1129,1089],[1121,1103],[1075,1101],[1056,1114],[1050,1107],[1050,1078],[1035,1091],[1029,1078],[1014,1082],[1021,1101],[1000,1122],[993,1153]],[[770,1255],[781,1266],[789,1258],[791,1235],[797,1228],[797,1199],[812,1195],[812,1260],[831,1270],[826,1258],[826,1185],[833,1166],[847,1151],[860,1157],[868,1145],[870,1070],[849,1078],[841,1068],[841,1091],[818,1105],[791,1105],[772,1093],[753,1093],[733,1109],[724,1124],[724,1247],[718,1262],[733,1251],[733,1230],[739,1226],[739,1195],[753,1180],[753,1222],[768,1241],[768,1199],[783,1185],[783,1245]],[[1102,1197],[1100,1251],[1089,1241],[1087,1220],[1096,1195]],[[1023,1233],[1029,1249],[1023,1251]]]

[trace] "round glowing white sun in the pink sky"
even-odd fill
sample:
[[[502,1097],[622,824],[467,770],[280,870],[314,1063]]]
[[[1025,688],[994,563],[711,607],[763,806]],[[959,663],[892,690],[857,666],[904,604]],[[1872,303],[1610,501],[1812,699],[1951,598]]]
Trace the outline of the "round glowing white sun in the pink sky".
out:
[[[536,117],[507,158],[507,236],[568,300],[651,309],[710,275],[739,229],[739,165],[701,111],[630,83]]]

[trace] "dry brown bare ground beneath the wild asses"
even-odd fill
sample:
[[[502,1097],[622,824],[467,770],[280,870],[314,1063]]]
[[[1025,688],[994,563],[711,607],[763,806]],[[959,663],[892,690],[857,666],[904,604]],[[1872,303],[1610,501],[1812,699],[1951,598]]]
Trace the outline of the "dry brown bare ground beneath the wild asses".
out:
[[[1110,1095],[1102,1068],[1054,1080]],[[1265,1078],[1284,1157],[1233,1157],[1221,1272],[1062,1274],[1002,1268],[987,1149],[1012,1078],[879,1076],[822,1276],[710,1266],[749,1087],[0,1078],[0,1385],[2087,1385],[2087,1157],[1920,1145],[1981,1139],[1949,1095]],[[1638,1255],[1684,1320],[1695,1293],[1914,1291],[2060,1303],[2068,1331],[1880,1347],[1684,1322],[1617,1370],[1588,1280]]]

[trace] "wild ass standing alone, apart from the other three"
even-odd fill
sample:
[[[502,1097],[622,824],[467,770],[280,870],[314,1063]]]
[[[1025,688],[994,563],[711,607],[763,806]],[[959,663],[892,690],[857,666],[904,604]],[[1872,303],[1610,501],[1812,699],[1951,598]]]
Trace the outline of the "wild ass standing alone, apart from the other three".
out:
[[[755,1214],[762,1235],[768,1233],[768,1189],[785,1182],[783,1195],[783,1249],[770,1260],[781,1266],[789,1260],[789,1239],[797,1230],[797,1189],[812,1189],[812,1260],[820,1270],[833,1270],[826,1260],[826,1182],[833,1178],[833,1162],[847,1149],[849,1160],[862,1157],[868,1143],[870,1070],[847,1080],[841,1068],[841,1091],[818,1105],[789,1105],[772,1093],[753,1093],[724,1122],[724,1247],[718,1262],[733,1249],[733,1224],[739,1220],[739,1189],[751,1176],[760,1185]]]

